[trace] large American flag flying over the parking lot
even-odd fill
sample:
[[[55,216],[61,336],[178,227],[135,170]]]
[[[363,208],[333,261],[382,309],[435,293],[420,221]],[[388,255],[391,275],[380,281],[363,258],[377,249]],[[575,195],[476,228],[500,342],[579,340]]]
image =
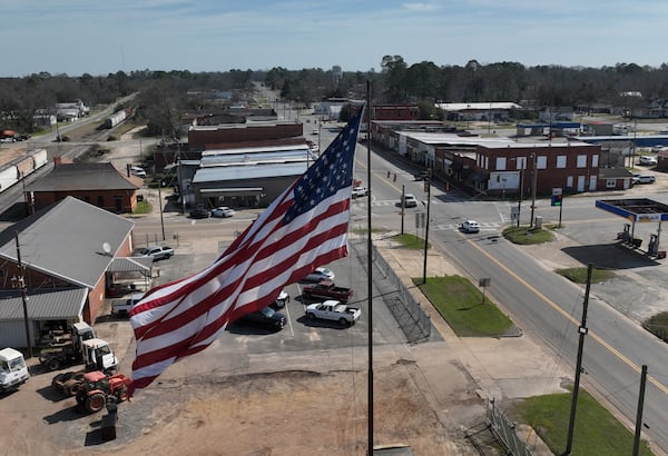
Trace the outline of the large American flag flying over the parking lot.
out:
[[[283,287],[347,256],[353,159],[362,109],[322,156],[208,268],[153,288],[130,311],[134,390],[204,350]]]

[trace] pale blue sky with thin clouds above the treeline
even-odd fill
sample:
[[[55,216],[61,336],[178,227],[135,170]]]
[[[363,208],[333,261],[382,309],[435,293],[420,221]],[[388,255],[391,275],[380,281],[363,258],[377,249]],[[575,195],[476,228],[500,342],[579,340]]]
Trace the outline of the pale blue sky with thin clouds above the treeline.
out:
[[[665,0],[0,0],[0,77],[517,61],[659,67]]]

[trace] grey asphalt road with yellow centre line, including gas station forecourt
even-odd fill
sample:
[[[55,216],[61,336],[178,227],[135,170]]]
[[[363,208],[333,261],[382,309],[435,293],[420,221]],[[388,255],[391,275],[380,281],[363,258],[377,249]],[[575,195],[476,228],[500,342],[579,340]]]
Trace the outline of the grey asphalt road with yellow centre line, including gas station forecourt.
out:
[[[376,156],[372,169],[375,180],[372,181],[371,198],[376,226],[399,230],[400,209],[394,204],[402,187],[425,200],[423,184],[413,181],[409,166],[395,166]],[[665,199],[665,194],[648,195],[655,188],[648,186],[638,191],[642,191],[642,197]],[[458,191],[443,190],[441,185],[432,188],[430,241],[439,244],[472,280],[491,278],[488,293],[493,299],[524,331],[542,340],[556,359],[574,368],[584,288],[553,274],[542,265],[541,258],[529,256],[499,237],[502,228],[510,225],[510,208],[515,202],[472,199]],[[668,303],[664,303],[668,291],[664,286],[668,284],[666,266],[616,247],[616,234],[622,230],[625,220],[596,209],[597,198],[623,196],[602,194],[567,198],[562,210],[561,232],[576,244],[568,254],[582,266],[588,262],[608,266],[619,275],[617,279],[592,287],[581,381],[598,394],[599,399],[616,408],[632,429],[640,367],[648,365],[642,430],[668,453],[668,353],[662,341],[639,326],[639,316],[647,317],[647,309],[652,313],[661,308],[668,310]],[[523,201],[522,224],[529,221],[530,202]],[[557,222],[559,209],[549,204],[549,200],[539,199],[536,215],[543,217],[543,222]],[[362,217],[364,210],[365,202],[356,201],[353,217]],[[424,236],[424,228],[416,228],[415,219],[420,217],[415,214],[425,212],[425,206],[419,205],[406,212],[406,232]],[[458,226],[466,218],[481,224],[480,234],[460,232]],[[648,238],[650,232],[656,232],[657,226],[645,224],[637,230],[638,235]]]

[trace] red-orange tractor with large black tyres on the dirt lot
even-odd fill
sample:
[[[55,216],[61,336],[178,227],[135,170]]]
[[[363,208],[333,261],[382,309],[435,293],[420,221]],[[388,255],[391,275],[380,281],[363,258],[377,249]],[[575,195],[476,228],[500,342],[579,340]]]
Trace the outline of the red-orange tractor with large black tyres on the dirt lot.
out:
[[[122,374],[107,376],[94,370],[84,374],[84,383],[77,390],[77,408],[89,413],[100,412],[107,403],[126,400],[131,380]]]

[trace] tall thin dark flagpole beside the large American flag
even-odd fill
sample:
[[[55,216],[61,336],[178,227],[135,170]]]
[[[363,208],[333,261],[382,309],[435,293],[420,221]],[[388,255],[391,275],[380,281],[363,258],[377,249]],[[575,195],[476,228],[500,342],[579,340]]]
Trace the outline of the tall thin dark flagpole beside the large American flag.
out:
[[[369,409],[369,448],[367,455],[373,455],[373,280],[372,280],[372,247],[371,241],[371,81],[366,81],[366,185],[369,186],[369,196],[366,197],[366,270],[367,278],[367,296],[369,296],[369,375],[367,375],[367,409]],[[362,121],[364,118],[362,118]]]

